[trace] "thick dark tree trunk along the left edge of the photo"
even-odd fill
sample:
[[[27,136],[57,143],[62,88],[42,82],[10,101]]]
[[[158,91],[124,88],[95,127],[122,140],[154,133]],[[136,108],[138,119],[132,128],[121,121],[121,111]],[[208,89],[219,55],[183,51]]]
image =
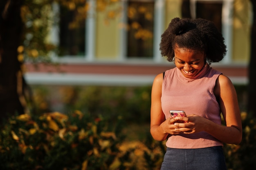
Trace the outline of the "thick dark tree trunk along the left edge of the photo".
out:
[[[22,2],[0,0],[0,119],[24,113],[24,104],[18,94],[23,89],[24,79],[17,52],[23,26],[20,17]]]

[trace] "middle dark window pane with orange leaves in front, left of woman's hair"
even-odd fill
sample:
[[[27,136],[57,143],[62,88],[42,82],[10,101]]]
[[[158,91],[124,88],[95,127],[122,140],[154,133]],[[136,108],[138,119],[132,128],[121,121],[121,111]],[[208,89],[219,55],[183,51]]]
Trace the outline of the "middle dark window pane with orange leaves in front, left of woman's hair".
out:
[[[129,58],[153,58],[154,2],[128,2]]]

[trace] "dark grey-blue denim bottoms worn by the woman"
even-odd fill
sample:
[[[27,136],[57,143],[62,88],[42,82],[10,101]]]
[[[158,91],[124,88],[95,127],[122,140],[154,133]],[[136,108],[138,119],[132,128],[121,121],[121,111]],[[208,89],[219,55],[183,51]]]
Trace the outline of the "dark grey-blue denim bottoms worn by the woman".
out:
[[[167,148],[161,170],[227,170],[222,146]]]

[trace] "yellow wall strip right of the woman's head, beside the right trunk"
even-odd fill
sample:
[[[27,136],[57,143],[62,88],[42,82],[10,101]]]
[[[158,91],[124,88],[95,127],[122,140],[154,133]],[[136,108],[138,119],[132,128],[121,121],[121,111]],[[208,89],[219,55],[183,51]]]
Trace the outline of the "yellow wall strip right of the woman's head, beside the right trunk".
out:
[[[249,0],[234,1],[233,60],[247,63],[250,55],[250,12]]]

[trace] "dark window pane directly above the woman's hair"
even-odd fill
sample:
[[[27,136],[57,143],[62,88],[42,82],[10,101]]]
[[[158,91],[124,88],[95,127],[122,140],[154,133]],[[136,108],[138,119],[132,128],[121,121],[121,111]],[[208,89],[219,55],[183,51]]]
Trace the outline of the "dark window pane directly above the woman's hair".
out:
[[[222,31],[222,2],[196,2],[196,18],[213,21],[218,30]]]

